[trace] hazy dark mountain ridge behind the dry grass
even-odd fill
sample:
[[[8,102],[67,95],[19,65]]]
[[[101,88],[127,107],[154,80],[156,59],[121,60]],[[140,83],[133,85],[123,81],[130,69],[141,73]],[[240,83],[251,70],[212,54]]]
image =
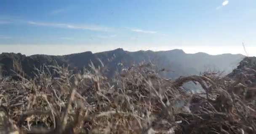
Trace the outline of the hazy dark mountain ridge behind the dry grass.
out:
[[[111,77],[115,71],[120,70],[117,66],[122,63],[125,67],[130,67],[141,61],[152,62],[156,64],[159,70],[165,68],[161,75],[170,78],[177,78],[181,75],[196,75],[203,71],[225,71],[231,72],[237,64],[244,58],[241,54],[221,54],[209,55],[205,53],[186,54],[182,50],[174,49],[170,51],[138,51],[128,52],[123,49],[115,49],[107,52],[83,52],[78,54],[69,54],[63,56],[51,55],[32,55],[25,56],[20,53],[2,53],[0,54],[0,68],[2,75],[13,75],[15,72],[24,72],[25,77],[33,77],[35,67],[40,68],[41,65],[59,65],[88,68],[93,62],[95,67],[101,66],[101,62],[107,67],[106,75]],[[99,60],[100,59],[100,60]]]

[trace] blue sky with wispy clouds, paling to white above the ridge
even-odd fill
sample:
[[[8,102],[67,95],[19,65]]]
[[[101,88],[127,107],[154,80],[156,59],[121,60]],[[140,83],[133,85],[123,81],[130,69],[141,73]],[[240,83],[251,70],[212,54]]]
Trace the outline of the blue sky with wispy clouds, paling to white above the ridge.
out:
[[[255,16],[256,0],[0,0],[0,53],[256,56]]]

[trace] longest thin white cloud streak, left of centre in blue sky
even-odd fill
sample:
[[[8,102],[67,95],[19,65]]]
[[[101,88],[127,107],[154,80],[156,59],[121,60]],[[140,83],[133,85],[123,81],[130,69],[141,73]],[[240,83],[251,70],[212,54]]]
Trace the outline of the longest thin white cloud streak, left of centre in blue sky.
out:
[[[91,30],[91,31],[111,31],[111,28],[104,26],[96,26],[96,25],[75,25],[75,24],[67,24],[67,23],[40,23],[35,21],[28,21],[28,24],[37,25],[37,26],[51,26],[58,28],[69,28],[69,29],[83,29],[83,30]]]

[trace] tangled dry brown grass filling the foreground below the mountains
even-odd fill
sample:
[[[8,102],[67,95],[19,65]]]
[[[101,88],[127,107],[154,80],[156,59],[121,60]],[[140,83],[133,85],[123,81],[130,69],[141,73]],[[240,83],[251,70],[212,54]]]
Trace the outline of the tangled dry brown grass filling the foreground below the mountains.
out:
[[[255,100],[239,77],[169,80],[139,64],[107,80],[106,67],[91,68],[43,66],[34,80],[0,78],[1,134],[256,134]],[[182,89],[189,81],[205,93]]]

